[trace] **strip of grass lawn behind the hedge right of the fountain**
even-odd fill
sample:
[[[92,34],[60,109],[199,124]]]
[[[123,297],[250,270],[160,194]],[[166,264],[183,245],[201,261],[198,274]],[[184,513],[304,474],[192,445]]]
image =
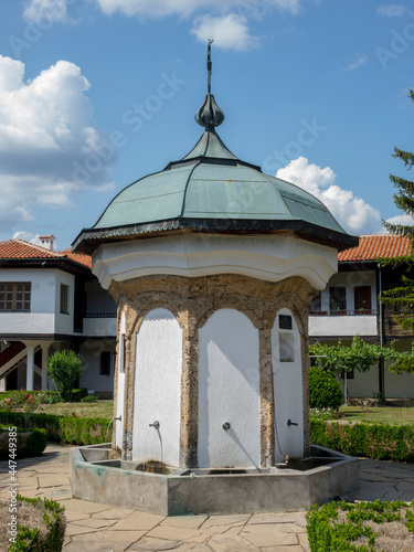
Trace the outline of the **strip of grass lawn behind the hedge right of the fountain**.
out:
[[[414,407],[412,406],[341,406],[339,412],[344,414],[341,420],[348,422],[414,425]]]

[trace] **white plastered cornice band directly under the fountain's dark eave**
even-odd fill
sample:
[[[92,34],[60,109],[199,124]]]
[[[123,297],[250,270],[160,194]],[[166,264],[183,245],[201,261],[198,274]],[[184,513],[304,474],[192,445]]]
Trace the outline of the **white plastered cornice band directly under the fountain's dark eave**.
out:
[[[93,254],[93,273],[108,289],[152,274],[206,276],[238,274],[266,282],[301,276],[323,289],[338,269],[338,252],[316,243],[278,235],[217,234],[148,237],[105,244]]]

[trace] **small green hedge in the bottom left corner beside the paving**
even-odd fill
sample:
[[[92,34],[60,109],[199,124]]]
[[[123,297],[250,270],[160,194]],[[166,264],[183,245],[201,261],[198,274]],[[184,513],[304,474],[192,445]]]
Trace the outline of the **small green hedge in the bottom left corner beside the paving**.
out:
[[[31,524],[18,524],[14,542],[8,546],[8,552],[61,552],[65,538],[66,521],[64,517],[65,508],[54,500],[40,498],[25,498],[21,495],[17,497],[18,502],[28,502],[33,508],[43,512],[43,520],[46,526],[46,533],[42,534],[40,529]]]

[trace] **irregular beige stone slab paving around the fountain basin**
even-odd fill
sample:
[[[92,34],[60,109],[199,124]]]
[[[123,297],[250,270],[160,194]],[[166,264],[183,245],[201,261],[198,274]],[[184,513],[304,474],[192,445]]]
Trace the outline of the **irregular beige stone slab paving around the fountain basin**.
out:
[[[306,512],[164,518],[72,498],[68,447],[49,445],[41,457],[18,463],[19,491],[65,507],[64,552],[194,551],[308,552]],[[361,489],[351,500],[414,500],[410,465],[361,460]],[[0,463],[0,497],[9,498],[8,464]]]

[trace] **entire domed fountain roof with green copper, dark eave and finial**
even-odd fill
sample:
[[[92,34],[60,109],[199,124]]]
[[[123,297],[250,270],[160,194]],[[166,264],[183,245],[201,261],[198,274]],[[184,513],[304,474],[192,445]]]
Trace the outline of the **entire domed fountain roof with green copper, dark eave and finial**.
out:
[[[195,120],[204,126],[204,132],[194,148],[118,193],[96,224],[81,232],[74,250],[92,253],[100,243],[184,229],[290,232],[338,250],[357,245],[357,238],[347,234],[314,195],[264,174],[225,147],[215,131],[224,114],[210,94],[210,72],[209,94]]]

